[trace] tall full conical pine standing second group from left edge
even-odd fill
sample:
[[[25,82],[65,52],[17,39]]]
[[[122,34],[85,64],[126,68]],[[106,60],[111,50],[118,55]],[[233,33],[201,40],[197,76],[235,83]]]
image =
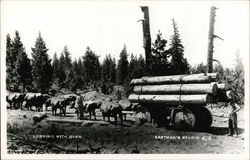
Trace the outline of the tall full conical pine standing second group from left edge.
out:
[[[41,33],[36,39],[32,50],[32,74],[34,87],[39,92],[45,93],[49,90],[53,78],[51,60],[47,54],[48,49],[41,37]]]

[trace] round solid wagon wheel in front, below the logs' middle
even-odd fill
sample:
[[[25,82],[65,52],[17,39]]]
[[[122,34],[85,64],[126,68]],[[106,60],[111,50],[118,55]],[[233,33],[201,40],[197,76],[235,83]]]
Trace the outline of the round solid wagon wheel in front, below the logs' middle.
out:
[[[196,125],[195,114],[187,108],[183,108],[174,116],[176,130],[193,130]]]

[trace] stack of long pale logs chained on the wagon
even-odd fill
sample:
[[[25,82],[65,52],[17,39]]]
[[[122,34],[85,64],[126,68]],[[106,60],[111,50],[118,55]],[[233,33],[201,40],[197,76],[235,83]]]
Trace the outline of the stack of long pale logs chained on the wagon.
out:
[[[155,76],[133,79],[132,103],[207,104],[220,101],[227,90],[218,73]]]

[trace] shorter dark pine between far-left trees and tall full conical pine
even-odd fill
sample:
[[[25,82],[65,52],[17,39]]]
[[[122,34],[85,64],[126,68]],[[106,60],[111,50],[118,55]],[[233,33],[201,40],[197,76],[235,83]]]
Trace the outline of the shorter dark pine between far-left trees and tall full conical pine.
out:
[[[31,63],[25,51],[20,52],[17,56],[16,72],[17,83],[22,85],[22,91],[30,90],[32,82]],[[29,87],[28,87],[29,86]]]

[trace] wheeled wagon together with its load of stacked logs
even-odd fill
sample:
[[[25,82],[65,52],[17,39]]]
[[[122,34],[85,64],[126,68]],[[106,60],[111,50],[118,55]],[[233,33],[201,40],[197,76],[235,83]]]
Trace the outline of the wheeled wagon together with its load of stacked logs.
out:
[[[205,106],[227,98],[227,86],[218,80],[217,73],[133,79],[129,100],[139,104],[147,119],[152,118],[158,126],[204,130],[213,122]]]

